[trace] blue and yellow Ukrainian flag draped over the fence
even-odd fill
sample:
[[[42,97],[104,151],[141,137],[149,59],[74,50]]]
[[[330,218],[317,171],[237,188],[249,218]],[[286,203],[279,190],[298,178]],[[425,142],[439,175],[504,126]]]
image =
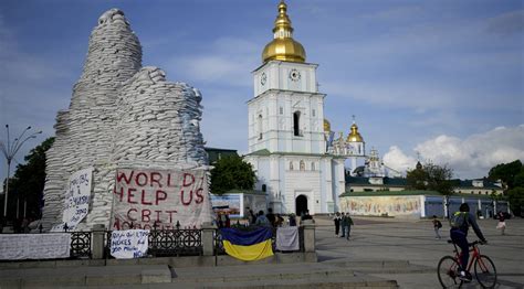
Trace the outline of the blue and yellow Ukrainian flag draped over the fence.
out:
[[[223,248],[231,257],[254,261],[273,256],[271,245],[273,232],[269,227],[260,227],[250,232],[221,228],[220,233],[222,234]]]

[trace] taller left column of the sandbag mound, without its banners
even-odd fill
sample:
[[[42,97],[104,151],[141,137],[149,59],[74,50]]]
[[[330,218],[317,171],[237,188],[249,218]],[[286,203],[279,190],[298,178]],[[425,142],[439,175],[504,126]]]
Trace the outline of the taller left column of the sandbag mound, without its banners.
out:
[[[91,34],[84,69],[73,87],[70,109],[56,117],[55,142],[48,151],[44,228],[61,223],[64,190],[69,176],[77,170],[95,167],[92,210],[103,210],[95,207],[95,203],[107,206],[111,202],[107,188],[101,181],[108,178],[107,167],[111,167],[107,161],[112,150],[116,98],[122,83],[140,66],[142,46],[124,13],[117,9],[105,12]]]

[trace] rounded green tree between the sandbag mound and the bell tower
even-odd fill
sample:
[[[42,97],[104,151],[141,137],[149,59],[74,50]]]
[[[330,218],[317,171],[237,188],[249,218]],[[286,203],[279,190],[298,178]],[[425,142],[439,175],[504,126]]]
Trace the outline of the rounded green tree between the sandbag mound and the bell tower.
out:
[[[213,163],[211,193],[223,194],[230,190],[252,190],[256,181],[253,168],[238,156],[228,156]]]

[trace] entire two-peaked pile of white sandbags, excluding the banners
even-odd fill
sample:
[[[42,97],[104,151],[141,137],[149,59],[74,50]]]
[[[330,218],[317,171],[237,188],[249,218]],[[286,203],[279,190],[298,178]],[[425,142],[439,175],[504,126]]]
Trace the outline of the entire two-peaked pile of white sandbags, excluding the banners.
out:
[[[199,124],[200,93],[166,82],[156,67],[140,69],[142,47],[124,13],[105,12],[90,38],[70,109],[56,117],[56,138],[48,151],[42,224],[62,221],[70,175],[94,167],[90,211],[76,229],[109,225],[117,168],[205,169],[207,153]]]

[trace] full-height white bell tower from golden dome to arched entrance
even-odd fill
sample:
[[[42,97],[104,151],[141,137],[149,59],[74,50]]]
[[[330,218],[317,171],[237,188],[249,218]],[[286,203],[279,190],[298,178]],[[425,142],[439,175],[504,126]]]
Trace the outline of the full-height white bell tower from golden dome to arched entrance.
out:
[[[253,165],[255,189],[268,194],[273,212],[333,213],[345,192],[347,156],[335,153],[333,132],[324,119],[326,95],[318,92],[318,65],[306,62],[304,47],[293,39],[286,10],[280,2],[273,41],[263,50],[262,65],[252,73],[254,94],[248,101],[244,160]],[[364,141],[356,141],[359,143],[352,146],[364,156]]]

